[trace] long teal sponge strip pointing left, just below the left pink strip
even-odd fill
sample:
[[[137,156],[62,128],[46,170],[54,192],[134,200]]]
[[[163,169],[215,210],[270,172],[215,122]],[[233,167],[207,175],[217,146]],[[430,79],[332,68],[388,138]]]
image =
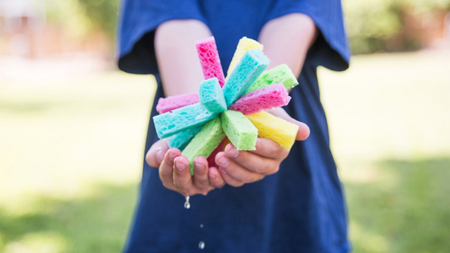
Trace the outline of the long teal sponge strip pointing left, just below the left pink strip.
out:
[[[153,117],[155,130],[160,139],[175,133],[204,124],[218,115],[212,113],[200,103],[181,107]]]

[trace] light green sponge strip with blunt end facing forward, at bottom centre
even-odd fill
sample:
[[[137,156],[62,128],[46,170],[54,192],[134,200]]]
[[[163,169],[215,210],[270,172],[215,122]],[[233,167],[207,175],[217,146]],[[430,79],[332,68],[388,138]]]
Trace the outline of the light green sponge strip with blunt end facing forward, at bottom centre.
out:
[[[258,129],[239,111],[224,111],[220,114],[222,128],[237,150],[256,150]]]

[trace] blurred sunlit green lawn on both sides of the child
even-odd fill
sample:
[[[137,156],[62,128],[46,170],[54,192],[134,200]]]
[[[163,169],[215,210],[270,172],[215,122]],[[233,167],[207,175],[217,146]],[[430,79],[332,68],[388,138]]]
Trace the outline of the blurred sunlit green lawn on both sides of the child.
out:
[[[355,252],[450,251],[449,59],[378,54],[320,69]],[[119,252],[153,79],[51,73],[0,75],[0,252]]]

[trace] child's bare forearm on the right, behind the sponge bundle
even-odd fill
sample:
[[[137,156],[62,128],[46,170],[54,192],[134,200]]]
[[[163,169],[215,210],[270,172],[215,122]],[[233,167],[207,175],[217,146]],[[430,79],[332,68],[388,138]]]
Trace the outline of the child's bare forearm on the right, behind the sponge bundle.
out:
[[[267,22],[258,41],[270,59],[268,68],[286,63],[298,77],[306,53],[317,37],[314,21],[305,14],[293,13]]]

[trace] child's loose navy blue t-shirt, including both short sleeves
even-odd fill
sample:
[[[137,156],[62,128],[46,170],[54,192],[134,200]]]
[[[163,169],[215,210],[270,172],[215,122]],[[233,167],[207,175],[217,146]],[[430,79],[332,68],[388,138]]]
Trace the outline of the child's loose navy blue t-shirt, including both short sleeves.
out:
[[[139,200],[124,252],[336,252],[350,250],[341,183],[329,148],[316,68],[348,67],[350,53],[336,0],[124,0],[119,28],[119,67],[154,74],[155,100],[164,96],[153,47],[155,28],[171,19],[198,19],[216,39],[228,68],[238,40],[257,39],[263,25],[288,13],[309,15],[320,30],[308,51],[299,85],[285,110],[309,125],[310,137],[296,142],[278,173],[242,187],[224,186],[207,196],[184,197],[162,186],[158,171],[144,162]],[[193,45],[194,46],[194,45]],[[153,105],[151,117],[157,115]],[[157,141],[148,125],[145,152]],[[204,249],[198,244],[204,242]]]

